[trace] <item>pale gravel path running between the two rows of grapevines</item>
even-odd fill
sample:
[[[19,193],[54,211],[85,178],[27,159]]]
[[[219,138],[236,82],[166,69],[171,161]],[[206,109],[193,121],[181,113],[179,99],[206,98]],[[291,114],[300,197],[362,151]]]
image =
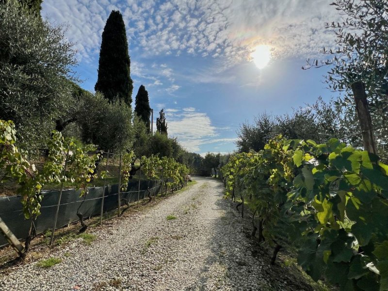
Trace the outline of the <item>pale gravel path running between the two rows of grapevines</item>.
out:
[[[92,229],[91,245],[53,251],[63,261],[51,268],[14,267],[0,290],[284,290],[281,281],[271,286],[268,261],[252,256],[248,222],[223,199],[222,183],[195,180],[153,208]]]

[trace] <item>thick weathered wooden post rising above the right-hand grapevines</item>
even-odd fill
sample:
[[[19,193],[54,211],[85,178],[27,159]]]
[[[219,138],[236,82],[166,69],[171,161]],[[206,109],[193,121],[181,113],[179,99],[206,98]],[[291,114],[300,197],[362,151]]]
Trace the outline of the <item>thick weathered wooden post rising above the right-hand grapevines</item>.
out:
[[[369,113],[367,95],[365,92],[365,84],[361,81],[353,83],[352,91],[355,98],[364,150],[377,154],[376,144],[374,143],[372,119],[371,114]]]

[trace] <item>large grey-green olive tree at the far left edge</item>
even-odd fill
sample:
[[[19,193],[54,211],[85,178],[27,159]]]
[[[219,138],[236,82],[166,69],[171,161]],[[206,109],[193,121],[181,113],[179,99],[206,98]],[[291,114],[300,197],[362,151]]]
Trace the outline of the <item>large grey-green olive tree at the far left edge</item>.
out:
[[[0,3],[0,112],[14,121],[21,148],[44,146],[71,105],[76,51],[64,33],[64,26],[51,26],[19,1]]]

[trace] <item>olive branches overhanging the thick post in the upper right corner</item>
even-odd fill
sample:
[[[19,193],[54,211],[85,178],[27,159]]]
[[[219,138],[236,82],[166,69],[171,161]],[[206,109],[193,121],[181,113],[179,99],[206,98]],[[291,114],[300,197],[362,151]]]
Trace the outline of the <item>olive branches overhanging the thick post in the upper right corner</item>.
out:
[[[355,108],[352,84],[365,85],[381,154],[388,142],[388,0],[335,0],[331,5],[342,16],[340,22],[325,24],[335,33],[336,49],[323,48],[327,59],[308,60],[306,68],[330,66],[326,83],[343,92],[339,104],[346,108],[344,113]]]

